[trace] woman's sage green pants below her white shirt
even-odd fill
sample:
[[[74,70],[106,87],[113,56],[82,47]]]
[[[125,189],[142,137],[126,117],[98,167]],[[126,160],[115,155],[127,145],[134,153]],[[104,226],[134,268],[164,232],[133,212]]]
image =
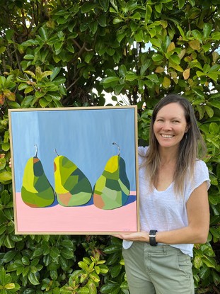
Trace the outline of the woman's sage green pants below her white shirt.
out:
[[[169,245],[134,242],[122,251],[130,294],[193,294],[190,256]]]

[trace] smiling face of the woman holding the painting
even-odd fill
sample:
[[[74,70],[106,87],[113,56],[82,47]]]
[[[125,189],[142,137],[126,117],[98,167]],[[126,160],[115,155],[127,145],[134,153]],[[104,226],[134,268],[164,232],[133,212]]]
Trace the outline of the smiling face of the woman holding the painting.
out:
[[[179,103],[170,103],[158,111],[154,135],[160,147],[178,147],[187,130],[184,109]]]

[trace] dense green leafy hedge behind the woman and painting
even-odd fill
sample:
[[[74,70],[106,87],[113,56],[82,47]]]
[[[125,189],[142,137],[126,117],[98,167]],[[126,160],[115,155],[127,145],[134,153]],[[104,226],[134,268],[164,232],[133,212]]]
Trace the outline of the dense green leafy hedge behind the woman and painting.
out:
[[[195,287],[219,293],[219,11],[219,0],[1,1],[0,293],[129,293],[120,240],[14,234],[8,108],[104,106],[110,96],[138,105],[147,144],[152,108],[173,92],[195,109],[212,181]]]

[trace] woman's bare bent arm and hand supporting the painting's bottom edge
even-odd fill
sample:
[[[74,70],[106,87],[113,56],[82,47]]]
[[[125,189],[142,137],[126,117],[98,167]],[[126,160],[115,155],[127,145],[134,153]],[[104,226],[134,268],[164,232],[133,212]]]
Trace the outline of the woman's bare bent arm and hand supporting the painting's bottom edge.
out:
[[[209,232],[209,200],[207,182],[202,183],[187,201],[187,227],[178,230],[157,232],[156,242],[164,244],[205,243]],[[155,228],[152,227],[151,230]],[[149,232],[117,234],[115,237],[130,241],[149,242]]]

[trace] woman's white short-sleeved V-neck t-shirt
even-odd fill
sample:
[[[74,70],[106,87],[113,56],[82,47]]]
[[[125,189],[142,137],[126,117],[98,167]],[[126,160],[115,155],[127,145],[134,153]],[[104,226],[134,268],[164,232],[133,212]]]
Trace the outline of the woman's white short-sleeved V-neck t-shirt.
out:
[[[141,166],[146,156],[148,147],[139,147],[139,197],[140,197],[140,225],[141,230],[157,230],[158,232],[170,231],[186,227],[188,225],[186,203],[192,191],[207,181],[207,189],[210,186],[209,171],[202,160],[195,162],[194,180],[185,181],[184,196],[176,195],[173,183],[165,191],[149,189],[149,181],[146,178],[146,166]],[[123,241],[123,247],[128,249],[131,241]],[[192,256],[193,244],[170,244],[179,248],[184,254]]]

